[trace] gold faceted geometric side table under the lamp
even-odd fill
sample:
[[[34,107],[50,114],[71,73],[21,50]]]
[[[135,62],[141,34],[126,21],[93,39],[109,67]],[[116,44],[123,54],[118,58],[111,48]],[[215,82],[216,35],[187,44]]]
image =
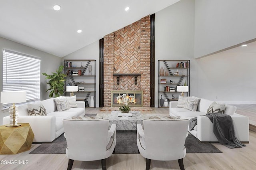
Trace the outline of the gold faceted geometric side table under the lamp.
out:
[[[30,150],[34,133],[29,123],[19,127],[0,126],[0,154],[18,154]]]

